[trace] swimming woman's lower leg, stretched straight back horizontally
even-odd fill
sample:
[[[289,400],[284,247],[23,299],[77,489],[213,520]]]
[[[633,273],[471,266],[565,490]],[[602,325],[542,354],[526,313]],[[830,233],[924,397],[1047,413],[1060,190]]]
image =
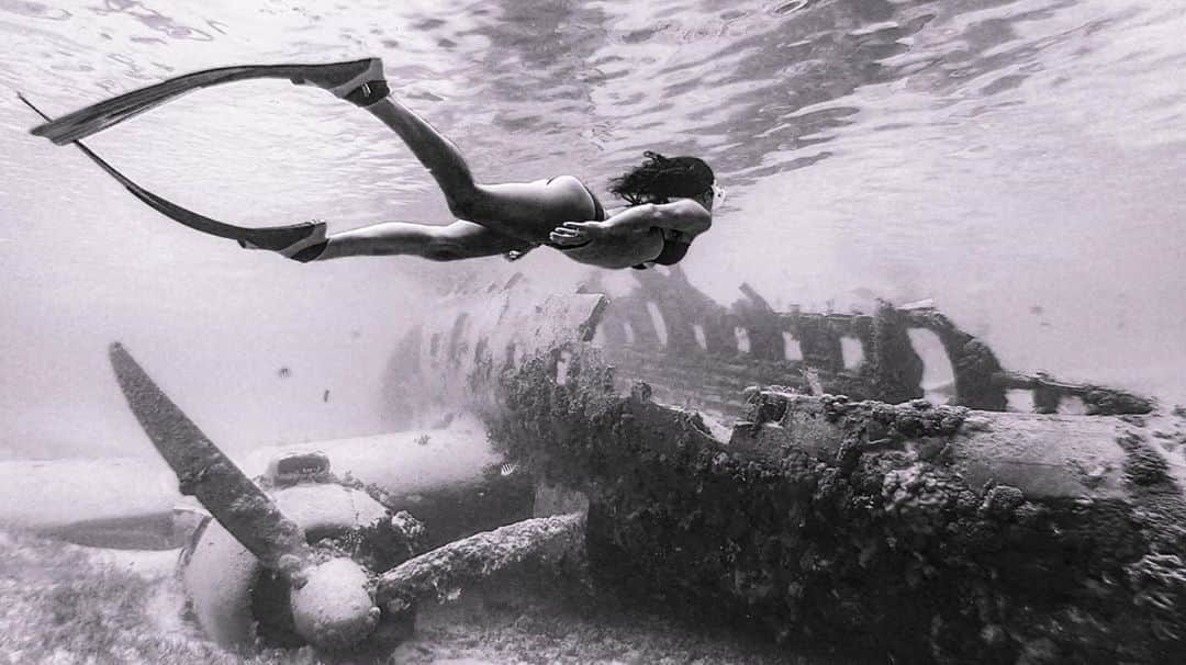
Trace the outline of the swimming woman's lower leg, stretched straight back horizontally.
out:
[[[408,255],[431,261],[458,261],[523,248],[523,241],[471,222],[458,220],[447,226],[388,222],[330,236],[314,260]]]

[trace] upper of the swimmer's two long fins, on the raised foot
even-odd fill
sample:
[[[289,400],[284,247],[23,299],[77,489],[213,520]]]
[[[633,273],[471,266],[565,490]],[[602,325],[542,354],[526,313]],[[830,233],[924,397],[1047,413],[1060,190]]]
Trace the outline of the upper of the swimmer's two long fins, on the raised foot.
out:
[[[47,121],[45,124],[34,127],[31,132],[64,146],[154,109],[181,95],[211,85],[256,78],[286,78],[293,83],[305,83],[311,78],[329,77],[339,85],[352,88],[362,85],[376,76],[382,78],[382,63],[377,58],[317,65],[240,65],[208,69],[125,92],[57,120]],[[344,92],[337,89],[331,88],[331,91],[339,97],[344,96]]]

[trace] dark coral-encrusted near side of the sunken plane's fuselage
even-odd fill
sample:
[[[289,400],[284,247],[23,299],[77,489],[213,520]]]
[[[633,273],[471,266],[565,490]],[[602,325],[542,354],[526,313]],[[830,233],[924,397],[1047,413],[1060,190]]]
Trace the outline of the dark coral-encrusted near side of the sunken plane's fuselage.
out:
[[[1111,494],[976,486],[952,461],[999,422],[963,408],[747,391],[726,443],[594,350],[503,375],[491,437],[588,495],[599,589],[903,663],[1169,663],[1186,653],[1186,513],[1124,447]],[[1035,416],[1042,417],[1042,416]],[[1137,435],[1139,436],[1139,435]]]

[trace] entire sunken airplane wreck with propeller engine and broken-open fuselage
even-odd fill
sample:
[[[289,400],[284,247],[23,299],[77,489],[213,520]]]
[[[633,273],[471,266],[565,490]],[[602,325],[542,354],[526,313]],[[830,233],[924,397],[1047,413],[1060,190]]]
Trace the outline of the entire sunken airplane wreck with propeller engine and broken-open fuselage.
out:
[[[1180,408],[1008,372],[930,307],[780,313],[742,287],[727,308],[651,273],[613,301],[512,279],[412,330],[389,421],[478,414],[499,460],[414,497],[312,452],[249,480],[114,345],[132,410],[210,514],[180,563],[200,627],[381,652],[417,606],[533,565],[898,663],[1181,661]],[[919,330],[950,360],[946,404],[923,399]],[[1010,391],[1035,413],[1007,413]]]

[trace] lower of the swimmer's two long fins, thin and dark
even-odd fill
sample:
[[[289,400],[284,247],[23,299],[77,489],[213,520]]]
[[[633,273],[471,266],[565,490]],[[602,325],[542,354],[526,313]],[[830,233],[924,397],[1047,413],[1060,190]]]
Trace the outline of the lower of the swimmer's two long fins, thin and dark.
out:
[[[26,100],[24,95],[18,95],[18,98],[20,98],[21,102],[25,102],[28,108],[33,109],[37,115],[40,115],[45,120],[50,120],[47,115],[42,113],[42,110],[34,107],[32,102]],[[170,219],[173,219],[174,222],[196,231],[202,231],[203,234],[209,234],[219,238],[238,241],[240,243],[250,243],[260,249],[270,249],[276,251],[292,247],[294,243],[305,239],[313,234],[315,229],[315,224],[312,222],[288,224],[286,226],[251,229],[235,226],[234,224],[227,224],[224,222],[218,222],[217,219],[211,219],[181,207],[173,202],[164,199],[135,184],[130,178],[120,173],[103,158],[98,156],[94,151],[83,145],[82,141],[74,141],[74,145],[82,151],[83,154],[90,158],[91,161],[97,164],[100,168],[106,171],[111,178],[115,178],[121,185],[123,185],[125,188],[132,192],[132,196],[148,204],[153,210],[160,212],[165,217],[168,217]]]

